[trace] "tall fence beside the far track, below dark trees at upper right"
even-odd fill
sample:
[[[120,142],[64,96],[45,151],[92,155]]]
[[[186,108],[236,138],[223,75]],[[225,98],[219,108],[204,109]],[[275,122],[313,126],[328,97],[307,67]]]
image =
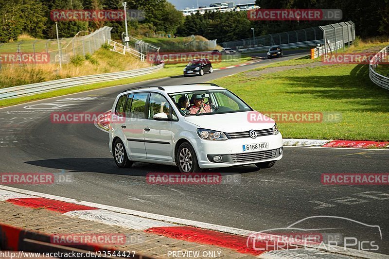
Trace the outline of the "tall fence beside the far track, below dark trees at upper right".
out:
[[[307,29],[301,29],[290,32],[269,34],[258,37],[251,37],[235,41],[220,43],[224,48],[232,49],[249,49],[272,45],[291,44],[299,42],[316,42],[324,39],[329,40],[330,43],[342,41],[343,43],[350,42],[355,39],[355,25],[353,22],[340,22],[326,26],[318,26]],[[340,43],[338,43],[340,45]]]

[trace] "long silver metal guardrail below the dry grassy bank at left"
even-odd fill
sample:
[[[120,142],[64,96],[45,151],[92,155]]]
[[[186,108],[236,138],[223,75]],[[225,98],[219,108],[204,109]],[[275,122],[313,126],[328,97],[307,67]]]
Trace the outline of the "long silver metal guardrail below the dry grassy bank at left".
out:
[[[158,71],[159,69],[162,69],[163,66],[164,64],[160,64],[158,66],[145,68],[145,69],[134,69],[134,70],[128,70],[122,72],[71,77],[71,78],[64,78],[64,79],[53,80],[48,82],[35,83],[30,85],[2,88],[0,89],[0,100],[33,95],[36,93],[49,92],[56,89],[67,88],[71,86],[87,85],[96,82],[105,82],[110,80],[149,74]]]

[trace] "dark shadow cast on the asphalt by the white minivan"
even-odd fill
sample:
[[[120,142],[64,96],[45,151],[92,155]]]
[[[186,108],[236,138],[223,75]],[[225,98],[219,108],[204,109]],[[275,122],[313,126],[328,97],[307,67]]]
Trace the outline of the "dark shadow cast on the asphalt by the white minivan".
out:
[[[56,158],[25,162],[44,168],[65,170],[69,173],[108,173],[119,175],[146,176],[147,173],[179,173],[175,166],[136,162],[131,168],[118,168],[113,158]],[[240,166],[203,170],[203,173],[251,173],[255,166]]]

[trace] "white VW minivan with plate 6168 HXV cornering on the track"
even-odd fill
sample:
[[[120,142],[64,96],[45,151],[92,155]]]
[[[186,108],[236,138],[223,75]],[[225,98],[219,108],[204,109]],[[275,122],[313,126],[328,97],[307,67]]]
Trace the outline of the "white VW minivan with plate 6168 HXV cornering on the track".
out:
[[[112,106],[109,150],[118,167],[133,162],[178,166],[182,173],[255,164],[270,168],[283,156],[276,123],[249,121],[255,112],[215,84],[142,86]]]

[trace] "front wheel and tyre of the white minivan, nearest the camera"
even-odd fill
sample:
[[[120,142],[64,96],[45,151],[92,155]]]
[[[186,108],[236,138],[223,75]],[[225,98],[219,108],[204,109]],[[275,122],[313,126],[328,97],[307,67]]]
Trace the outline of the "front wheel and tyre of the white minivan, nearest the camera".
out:
[[[182,143],[177,151],[177,166],[181,173],[200,173],[195,150],[188,142]]]

